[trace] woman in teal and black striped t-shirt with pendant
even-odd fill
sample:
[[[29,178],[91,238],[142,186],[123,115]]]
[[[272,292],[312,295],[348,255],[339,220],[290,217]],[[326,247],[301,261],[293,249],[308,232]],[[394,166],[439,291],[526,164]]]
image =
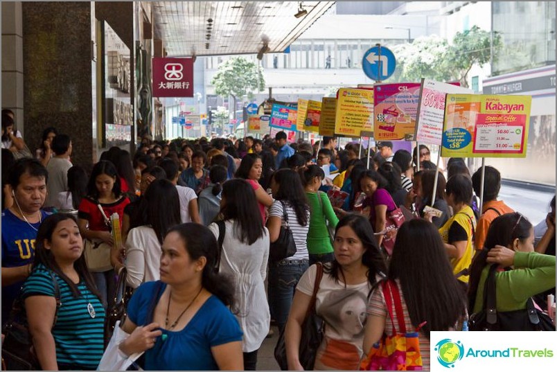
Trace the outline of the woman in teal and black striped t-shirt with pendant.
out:
[[[33,272],[21,293],[42,369],[96,369],[104,351],[105,309],[72,215],[57,213],[42,222]]]

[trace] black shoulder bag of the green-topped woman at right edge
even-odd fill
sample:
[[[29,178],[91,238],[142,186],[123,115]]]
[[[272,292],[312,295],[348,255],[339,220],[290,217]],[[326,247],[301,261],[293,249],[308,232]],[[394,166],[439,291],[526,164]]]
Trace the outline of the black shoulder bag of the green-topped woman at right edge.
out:
[[[470,315],[469,330],[551,330],[555,325],[545,312],[536,308],[530,298],[526,308],[513,311],[497,311],[495,292],[495,271],[497,265],[491,265],[484,285],[484,307]]]

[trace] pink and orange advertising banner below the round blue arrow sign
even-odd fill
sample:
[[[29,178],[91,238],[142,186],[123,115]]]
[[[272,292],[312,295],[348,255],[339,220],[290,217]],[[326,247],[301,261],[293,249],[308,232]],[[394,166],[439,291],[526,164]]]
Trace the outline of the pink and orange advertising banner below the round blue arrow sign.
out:
[[[417,82],[373,86],[375,141],[414,141],[420,86]]]

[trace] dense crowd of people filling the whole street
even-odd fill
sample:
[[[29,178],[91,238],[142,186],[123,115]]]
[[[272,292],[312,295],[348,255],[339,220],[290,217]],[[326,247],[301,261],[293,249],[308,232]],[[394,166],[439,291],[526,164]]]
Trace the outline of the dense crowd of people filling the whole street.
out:
[[[477,211],[480,170],[470,176],[451,159],[445,177],[425,145],[411,154],[377,143],[368,168],[365,149],[331,137],[314,146],[289,144],[285,132],[143,136],[133,157],[110,148],[87,172],[71,163],[71,136],[46,128],[34,156],[21,156],[18,133],[3,112],[1,321],[24,301],[42,369],[98,367],[123,270],[134,292],[118,348],[143,353],[137,363],[148,370],[256,370],[271,325],[289,369],[303,369],[302,324],[321,265],[315,369],[357,370],[400,319],[418,330],[429,369],[430,332],[466,329],[492,264],[497,310],[531,298],[544,309],[555,294],[555,197],[535,229],[498,199],[501,175],[486,166]],[[389,229],[398,211],[403,221]],[[294,250],[279,253],[285,242]],[[396,292],[403,315],[391,322]]]

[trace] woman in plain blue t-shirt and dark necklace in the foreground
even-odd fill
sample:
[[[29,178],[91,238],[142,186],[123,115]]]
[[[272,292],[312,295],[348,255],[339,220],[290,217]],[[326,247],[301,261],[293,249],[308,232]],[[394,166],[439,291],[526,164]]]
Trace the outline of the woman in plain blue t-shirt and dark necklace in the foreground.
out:
[[[161,280],[141,285],[127,306],[125,355],[145,351],[145,370],[243,370],[242,330],[229,310],[234,287],[218,274],[218,255],[200,224],[166,233]]]

